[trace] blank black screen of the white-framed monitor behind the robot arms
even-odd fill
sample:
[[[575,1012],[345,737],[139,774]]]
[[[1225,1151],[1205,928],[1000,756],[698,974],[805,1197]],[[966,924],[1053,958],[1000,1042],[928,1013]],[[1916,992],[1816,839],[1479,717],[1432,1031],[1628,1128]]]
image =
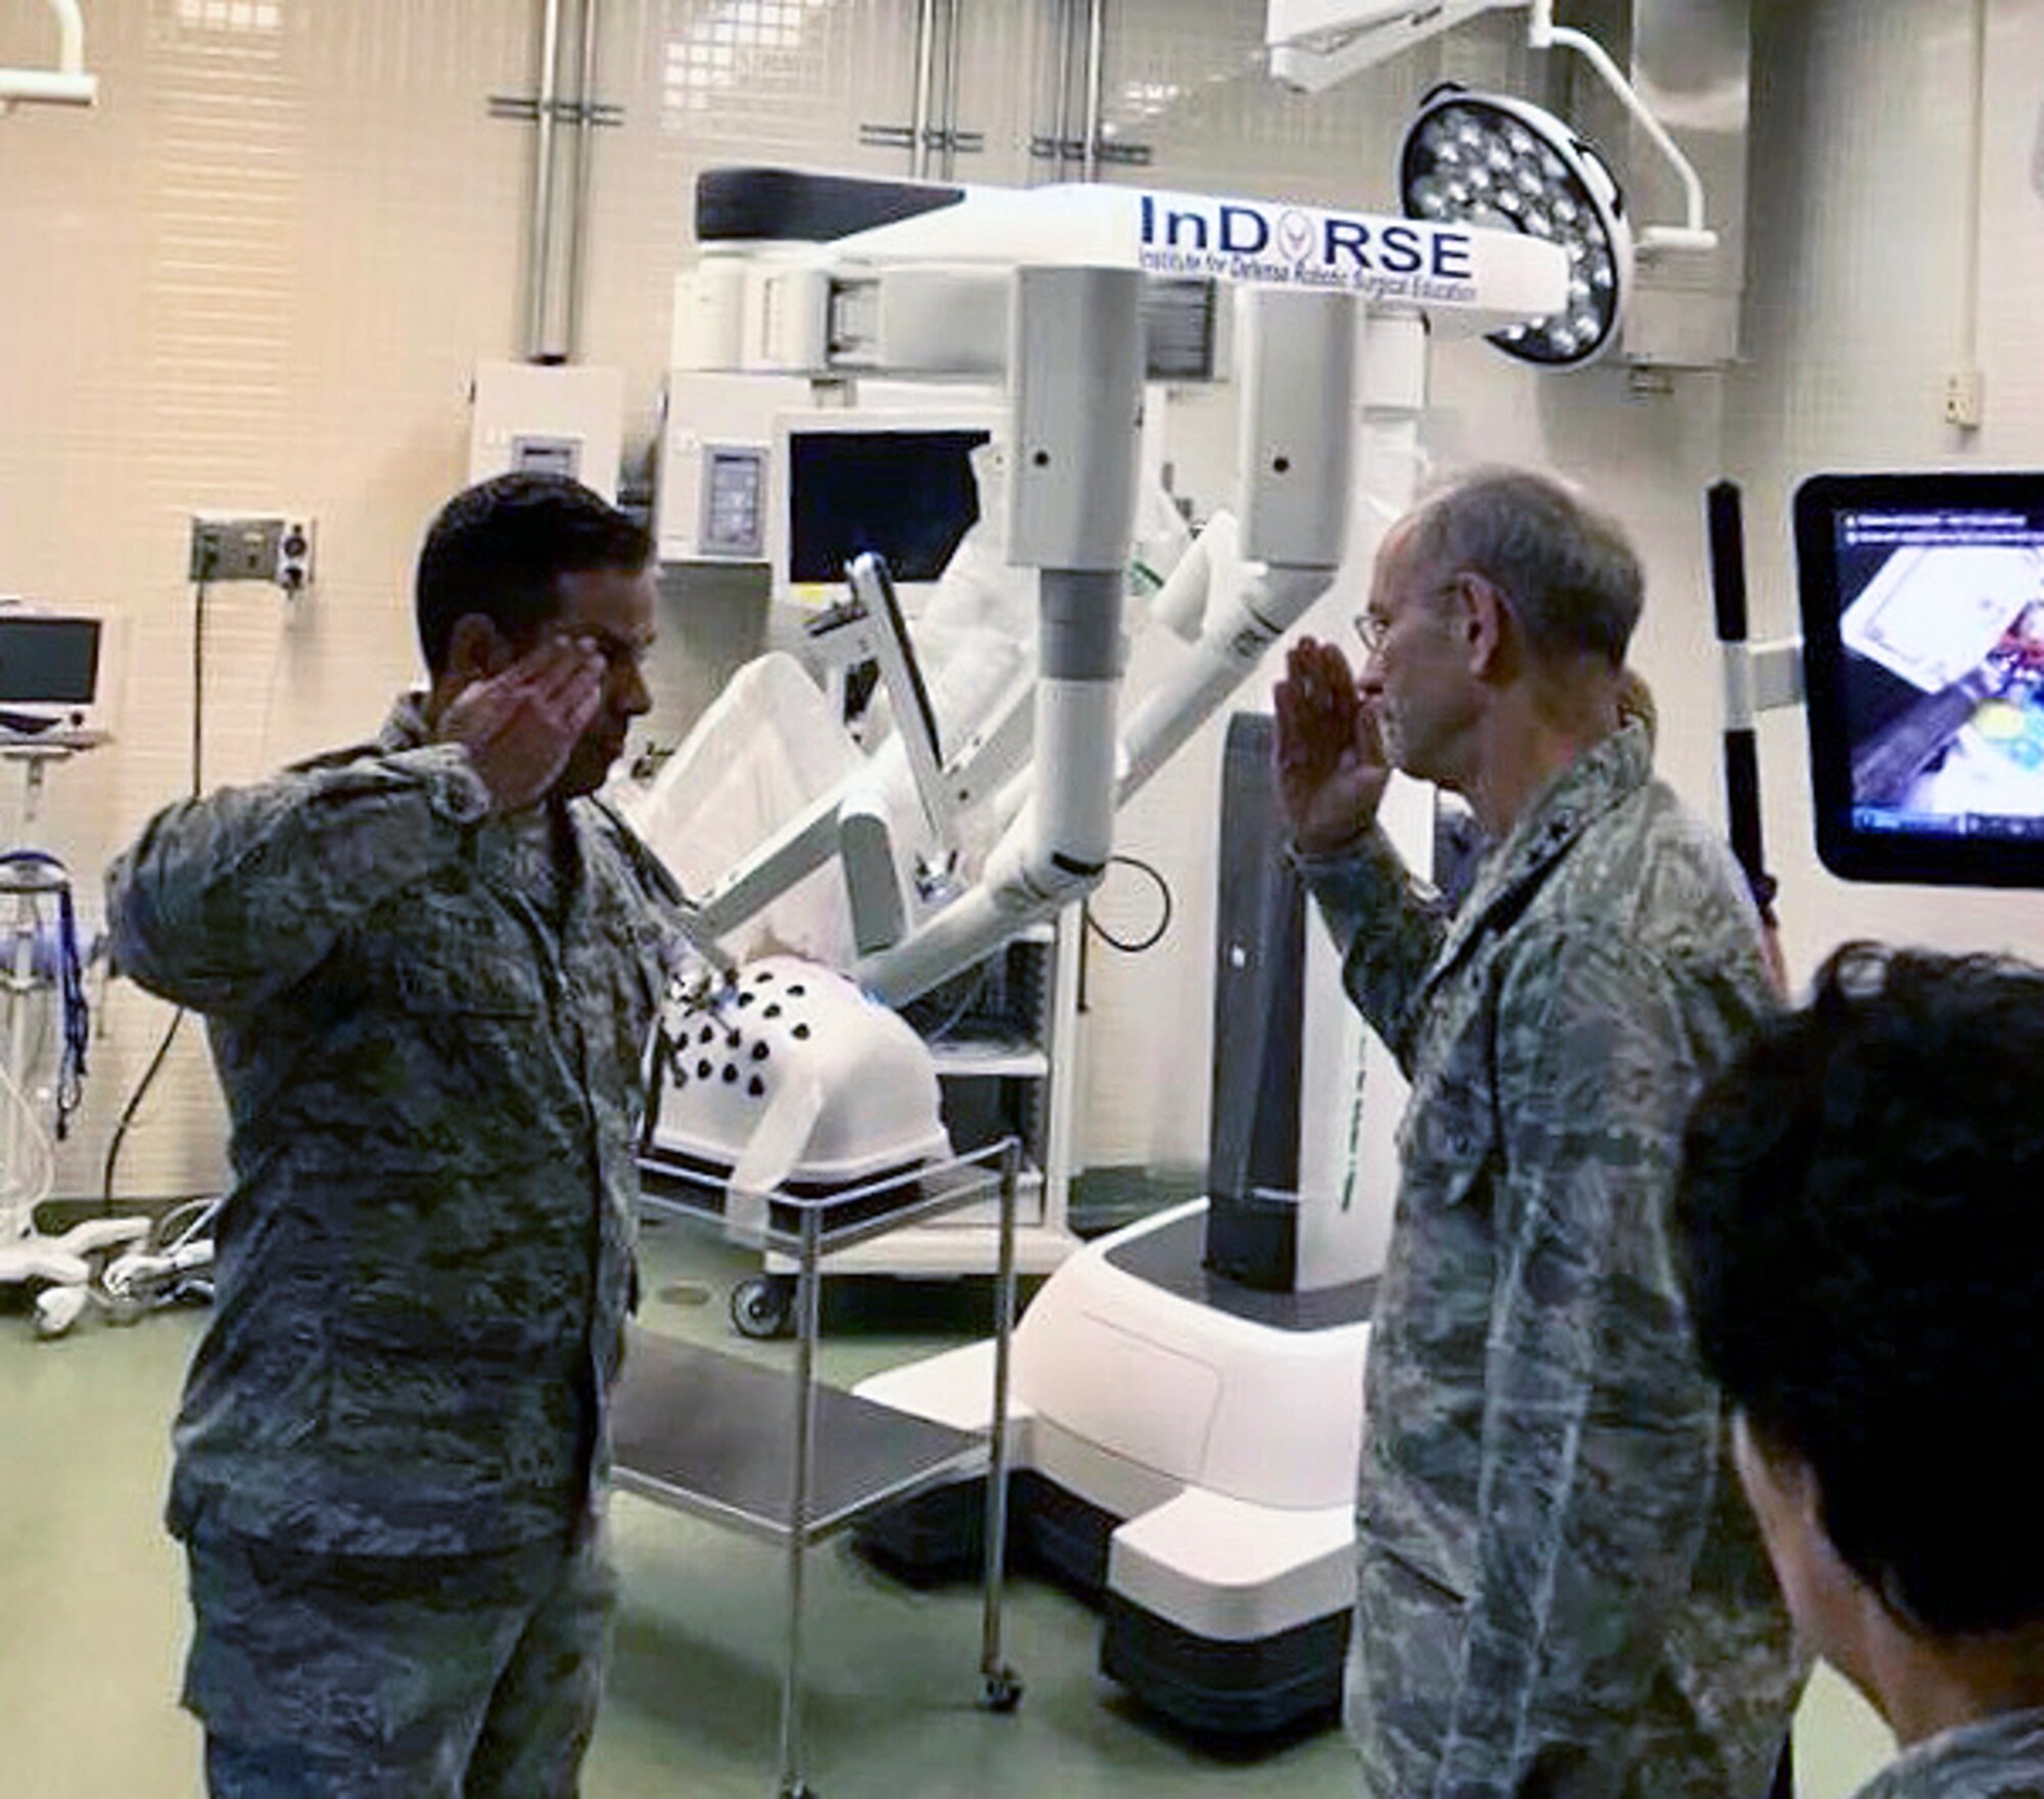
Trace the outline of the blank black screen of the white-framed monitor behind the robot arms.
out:
[[[871,550],[897,583],[936,581],[979,519],[971,454],[985,429],[795,431],[787,444],[787,579],[840,585]]]

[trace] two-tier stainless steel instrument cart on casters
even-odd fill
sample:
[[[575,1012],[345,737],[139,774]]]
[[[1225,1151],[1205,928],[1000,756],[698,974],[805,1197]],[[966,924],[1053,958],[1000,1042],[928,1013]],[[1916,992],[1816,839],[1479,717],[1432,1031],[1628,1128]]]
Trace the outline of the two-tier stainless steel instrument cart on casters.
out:
[[[787,1654],[781,1670],[781,1799],[814,1799],[803,1764],[801,1611],[811,1543],[924,1486],[987,1470],[985,1703],[1012,1711],[1022,1682],[1002,1660],[1008,1543],[1008,1353],[1016,1314],[1014,1139],[869,1186],[799,1198],[773,1194],[742,1225],[722,1188],[648,1171],[650,1212],[705,1220],[795,1263],[793,1378],[634,1331],[613,1409],[615,1478],[625,1492],[781,1543],[787,1550]],[[993,1300],[993,1429],[987,1437],[910,1419],[816,1380],[822,1284],[830,1257],[887,1231],[1000,1198]]]

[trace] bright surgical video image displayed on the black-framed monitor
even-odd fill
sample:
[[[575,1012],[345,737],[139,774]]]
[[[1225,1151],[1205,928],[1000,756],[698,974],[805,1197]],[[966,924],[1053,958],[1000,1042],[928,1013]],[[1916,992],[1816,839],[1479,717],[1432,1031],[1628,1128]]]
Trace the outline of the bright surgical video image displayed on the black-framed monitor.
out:
[[[1852,820],[2044,840],[2044,517],[1838,519]]]

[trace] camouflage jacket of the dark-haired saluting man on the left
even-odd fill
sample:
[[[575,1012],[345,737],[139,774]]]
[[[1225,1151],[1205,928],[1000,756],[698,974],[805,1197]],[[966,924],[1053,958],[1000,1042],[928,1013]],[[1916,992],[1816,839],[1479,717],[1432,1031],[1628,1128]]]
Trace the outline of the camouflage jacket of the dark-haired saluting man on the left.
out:
[[[570,801],[558,859],[544,826],[407,699],[108,873],[117,963],[206,1016],[233,1122],[178,1535],[476,1554],[601,1503],[670,932],[607,812]]]

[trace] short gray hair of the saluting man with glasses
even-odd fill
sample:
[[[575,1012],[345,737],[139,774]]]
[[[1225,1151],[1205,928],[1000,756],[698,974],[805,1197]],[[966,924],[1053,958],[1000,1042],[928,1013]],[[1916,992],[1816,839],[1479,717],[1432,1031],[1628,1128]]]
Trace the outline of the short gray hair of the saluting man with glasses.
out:
[[[1410,554],[1498,587],[1543,660],[1625,662],[1645,599],[1639,556],[1615,519],[1562,482],[1525,468],[1457,476],[1421,505]]]

